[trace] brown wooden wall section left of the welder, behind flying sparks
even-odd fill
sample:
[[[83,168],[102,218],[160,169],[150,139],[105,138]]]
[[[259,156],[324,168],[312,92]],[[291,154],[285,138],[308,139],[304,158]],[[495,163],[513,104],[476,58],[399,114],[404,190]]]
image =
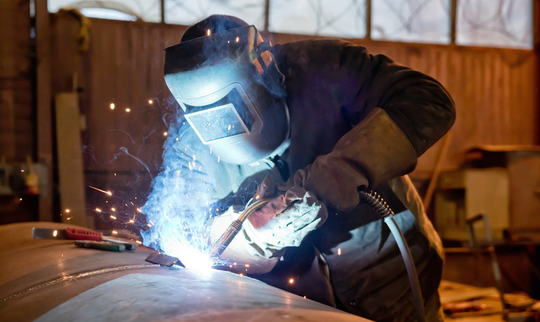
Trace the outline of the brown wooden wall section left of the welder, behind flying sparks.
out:
[[[164,132],[177,108],[163,80],[163,49],[179,42],[183,28],[91,19],[90,28],[81,29],[84,18],[77,15],[51,17],[51,92],[72,91],[76,80],[86,123],[88,213],[98,218],[98,228],[110,228],[104,213],[115,208],[118,222],[132,218],[161,167]],[[81,30],[89,36],[87,50],[80,48]]]

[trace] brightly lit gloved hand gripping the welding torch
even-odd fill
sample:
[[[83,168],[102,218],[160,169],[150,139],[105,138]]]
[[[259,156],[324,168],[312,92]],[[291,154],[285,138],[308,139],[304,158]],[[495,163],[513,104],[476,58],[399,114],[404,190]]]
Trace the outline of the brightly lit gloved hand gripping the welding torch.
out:
[[[248,217],[251,225],[245,226],[246,234],[255,244],[268,249],[298,246],[310,231],[325,222],[326,207],[303,187],[276,187],[271,177],[258,187],[259,198],[276,193],[277,197]]]

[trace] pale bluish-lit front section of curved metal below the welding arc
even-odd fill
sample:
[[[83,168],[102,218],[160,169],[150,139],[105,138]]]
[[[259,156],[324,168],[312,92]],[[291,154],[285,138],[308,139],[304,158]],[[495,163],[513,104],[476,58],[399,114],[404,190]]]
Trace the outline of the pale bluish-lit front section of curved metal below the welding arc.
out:
[[[130,274],[90,289],[37,322],[77,321],[357,321],[314,301],[226,271],[175,276]],[[249,313],[246,313],[247,312]],[[226,314],[227,319],[223,319]],[[309,319],[307,319],[309,317]],[[354,319],[348,319],[352,317]]]

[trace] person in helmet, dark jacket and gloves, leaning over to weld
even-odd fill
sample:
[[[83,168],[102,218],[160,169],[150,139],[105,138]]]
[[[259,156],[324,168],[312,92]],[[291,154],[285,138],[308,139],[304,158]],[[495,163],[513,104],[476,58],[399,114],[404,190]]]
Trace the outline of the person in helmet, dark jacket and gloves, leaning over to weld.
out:
[[[165,82],[191,137],[219,158],[223,213],[213,238],[249,199],[270,198],[224,257],[341,310],[415,321],[395,239],[359,198],[374,190],[411,249],[426,320],[442,321],[442,244],[407,176],[453,125],[453,101],[439,82],[339,39],[272,45],[224,15],[190,26],[166,50]]]

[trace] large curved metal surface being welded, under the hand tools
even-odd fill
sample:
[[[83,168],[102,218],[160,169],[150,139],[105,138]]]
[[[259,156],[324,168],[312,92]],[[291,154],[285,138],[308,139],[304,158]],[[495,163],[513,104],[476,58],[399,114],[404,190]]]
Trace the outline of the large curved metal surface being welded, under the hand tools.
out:
[[[0,226],[0,321],[368,321],[227,271],[145,262],[150,250],[100,251]]]

